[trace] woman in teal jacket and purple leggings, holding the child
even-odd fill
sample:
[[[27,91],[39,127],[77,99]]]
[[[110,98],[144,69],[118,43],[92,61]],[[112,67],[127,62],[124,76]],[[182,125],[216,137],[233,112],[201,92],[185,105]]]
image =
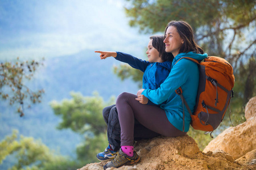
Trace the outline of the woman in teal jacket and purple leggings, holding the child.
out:
[[[171,73],[156,90],[142,89],[139,90],[138,96],[125,92],[117,97],[116,107],[121,125],[121,149],[117,156],[104,166],[104,169],[138,162],[139,156],[133,151],[134,118],[146,128],[167,137],[185,135],[189,130],[191,117],[184,108],[183,131],[183,104],[175,90],[179,87],[183,89],[183,96],[193,112],[199,85],[199,69],[196,63],[188,59],[177,61],[181,57],[203,60],[207,54],[204,54],[203,49],[196,44],[193,30],[187,22],[171,21],[168,23],[165,37],[166,52],[171,52],[175,57],[172,61]],[[159,108],[144,105],[148,100],[155,104],[167,101]]]

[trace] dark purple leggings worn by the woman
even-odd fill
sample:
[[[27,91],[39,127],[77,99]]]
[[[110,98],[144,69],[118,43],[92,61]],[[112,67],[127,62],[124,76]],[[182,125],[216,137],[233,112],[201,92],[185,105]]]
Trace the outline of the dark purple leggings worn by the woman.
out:
[[[121,146],[133,145],[135,133],[137,133],[134,120],[146,127],[145,129],[150,129],[166,137],[178,137],[187,134],[187,132],[175,128],[168,121],[166,112],[162,108],[141,104],[135,100],[136,97],[136,95],[127,92],[123,92],[117,97],[116,107],[121,125]]]

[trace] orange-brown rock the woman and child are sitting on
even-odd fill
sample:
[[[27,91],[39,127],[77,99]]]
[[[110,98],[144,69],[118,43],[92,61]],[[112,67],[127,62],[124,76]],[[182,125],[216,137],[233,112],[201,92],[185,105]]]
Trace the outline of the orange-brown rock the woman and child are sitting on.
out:
[[[224,151],[207,152],[199,150],[195,140],[188,135],[182,137],[156,137],[135,143],[134,150],[141,161],[113,169],[155,170],[155,169],[243,169],[233,157]],[[98,168],[108,161],[85,165],[79,170]]]

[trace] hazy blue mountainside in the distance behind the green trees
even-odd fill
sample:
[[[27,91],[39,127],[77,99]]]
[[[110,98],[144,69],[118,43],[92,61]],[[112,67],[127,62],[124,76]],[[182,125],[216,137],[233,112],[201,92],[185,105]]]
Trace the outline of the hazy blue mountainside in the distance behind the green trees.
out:
[[[73,56],[46,59],[44,66],[28,83],[28,87],[35,90],[44,88],[42,103],[32,105],[20,118],[14,107],[1,100],[0,140],[10,135],[13,129],[18,129],[19,134],[41,139],[52,150],[74,157],[75,148],[81,142],[80,135],[69,129],[56,130],[61,119],[54,115],[49,102],[71,98],[71,91],[81,92],[84,96],[92,96],[92,92],[97,91],[105,101],[125,91],[136,94],[138,84],[132,80],[121,81],[113,74],[113,65],[119,64],[113,57],[101,60],[98,53],[88,50]],[[11,163],[13,160],[5,160],[0,169]]]

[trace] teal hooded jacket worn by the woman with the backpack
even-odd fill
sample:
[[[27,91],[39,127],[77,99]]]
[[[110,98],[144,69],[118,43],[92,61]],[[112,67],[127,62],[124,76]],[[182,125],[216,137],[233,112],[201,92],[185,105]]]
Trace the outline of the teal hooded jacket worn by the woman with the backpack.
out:
[[[197,88],[199,85],[199,68],[196,63],[181,57],[191,57],[198,60],[207,58],[207,54],[197,54],[193,52],[180,53],[172,61],[172,69],[167,79],[156,90],[144,90],[142,95],[146,96],[155,104],[162,104],[160,108],[164,109],[168,120],[177,129],[183,131],[183,109],[185,112],[185,129],[189,130],[191,116],[187,111],[175,90],[179,87],[183,90],[183,96],[188,103],[191,112],[195,110]],[[180,59],[179,62],[177,62]],[[177,63],[176,63],[177,62]],[[176,63],[176,64],[175,64]]]

